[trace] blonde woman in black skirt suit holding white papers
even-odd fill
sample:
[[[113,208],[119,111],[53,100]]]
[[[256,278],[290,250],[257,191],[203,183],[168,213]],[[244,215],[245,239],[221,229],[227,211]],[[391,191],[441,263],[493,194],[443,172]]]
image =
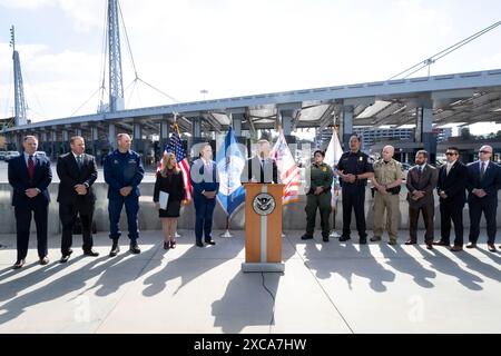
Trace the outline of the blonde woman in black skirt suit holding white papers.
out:
[[[164,231],[164,249],[176,247],[177,218],[180,204],[185,198],[183,174],[177,168],[174,154],[165,154],[161,159],[161,169],[155,182],[154,201],[161,219]]]

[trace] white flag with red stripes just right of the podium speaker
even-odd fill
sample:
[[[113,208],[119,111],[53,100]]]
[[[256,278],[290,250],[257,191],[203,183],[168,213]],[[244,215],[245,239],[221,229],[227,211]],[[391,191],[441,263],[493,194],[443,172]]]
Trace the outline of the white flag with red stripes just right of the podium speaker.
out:
[[[287,205],[299,200],[299,170],[296,161],[291,154],[287,141],[285,140],[284,130],[281,129],[278,140],[273,148],[271,156],[275,158],[281,176],[279,181],[285,185],[284,197],[282,201]]]

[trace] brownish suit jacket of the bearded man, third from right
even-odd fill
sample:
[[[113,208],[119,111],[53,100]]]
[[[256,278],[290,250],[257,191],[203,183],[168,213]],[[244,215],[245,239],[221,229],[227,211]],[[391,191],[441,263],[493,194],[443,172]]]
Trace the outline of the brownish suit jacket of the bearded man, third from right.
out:
[[[406,178],[406,187],[409,190],[407,194],[407,201],[409,206],[413,208],[419,208],[422,206],[425,206],[426,204],[433,204],[433,190],[436,187],[436,169],[430,165],[426,165],[424,167],[423,172],[421,174],[421,177],[419,175],[419,167],[414,166],[412,167],[407,172]],[[422,197],[419,200],[412,200],[412,192],[414,190],[422,190],[424,191],[424,197]]]

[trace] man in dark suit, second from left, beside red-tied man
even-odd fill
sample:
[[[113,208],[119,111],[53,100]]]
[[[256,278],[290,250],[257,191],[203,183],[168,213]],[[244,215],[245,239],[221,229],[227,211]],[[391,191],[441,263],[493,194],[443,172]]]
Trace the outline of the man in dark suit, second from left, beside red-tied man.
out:
[[[97,257],[92,250],[92,215],[96,196],[92,185],[97,179],[97,167],[94,156],[86,155],[86,142],[82,137],[70,139],[71,152],[59,156],[57,171],[59,184],[59,218],[62,225],[61,263],[68,261],[72,250],[72,230],[77,216],[80,215],[84,237],[84,255]]]

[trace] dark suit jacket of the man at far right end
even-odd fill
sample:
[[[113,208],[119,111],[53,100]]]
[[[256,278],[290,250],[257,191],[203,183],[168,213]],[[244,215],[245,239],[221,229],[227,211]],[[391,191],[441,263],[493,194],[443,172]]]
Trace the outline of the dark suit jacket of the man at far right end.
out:
[[[478,199],[478,197],[472,192],[473,189],[483,189],[487,196],[482,199],[495,199],[498,200],[498,190],[501,188],[501,168],[494,164],[489,162],[485,168],[483,179],[480,180],[480,162],[475,161],[466,167],[468,169],[468,200],[471,198]]]

